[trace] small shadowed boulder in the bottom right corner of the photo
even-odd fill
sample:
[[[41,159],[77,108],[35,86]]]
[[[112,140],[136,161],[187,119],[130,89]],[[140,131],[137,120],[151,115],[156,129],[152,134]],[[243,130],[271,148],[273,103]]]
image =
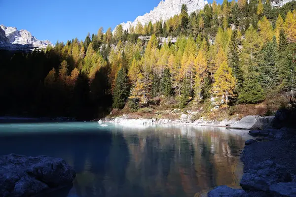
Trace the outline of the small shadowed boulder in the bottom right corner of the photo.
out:
[[[277,183],[269,187],[270,193],[275,197],[296,197],[296,183]]]

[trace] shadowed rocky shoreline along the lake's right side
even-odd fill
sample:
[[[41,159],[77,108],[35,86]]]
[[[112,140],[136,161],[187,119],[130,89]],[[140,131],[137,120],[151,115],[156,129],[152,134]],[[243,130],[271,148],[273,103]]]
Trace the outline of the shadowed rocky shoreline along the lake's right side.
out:
[[[281,116],[274,120],[277,127]],[[219,186],[208,197],[296,197],[296,130],[289,128],[249,131],[241,160],[242,189]]]

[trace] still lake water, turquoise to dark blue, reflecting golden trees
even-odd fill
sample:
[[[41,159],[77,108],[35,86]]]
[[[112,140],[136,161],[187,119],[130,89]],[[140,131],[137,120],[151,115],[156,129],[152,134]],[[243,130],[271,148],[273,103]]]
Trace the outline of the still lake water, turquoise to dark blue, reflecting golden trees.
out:
[[[77,172],[53,197],[198,197],[239,186],[246,131],[98,123],[0,124],[0,155],[61,157]]]

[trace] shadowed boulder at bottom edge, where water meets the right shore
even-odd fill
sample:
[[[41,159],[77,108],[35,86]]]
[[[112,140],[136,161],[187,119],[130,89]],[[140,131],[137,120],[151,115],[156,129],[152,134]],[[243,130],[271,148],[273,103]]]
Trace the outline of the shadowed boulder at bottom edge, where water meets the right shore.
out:
[[[248,194],[244,190],[236,190],[223,185],[209,192],[208,197],[248,197]]]

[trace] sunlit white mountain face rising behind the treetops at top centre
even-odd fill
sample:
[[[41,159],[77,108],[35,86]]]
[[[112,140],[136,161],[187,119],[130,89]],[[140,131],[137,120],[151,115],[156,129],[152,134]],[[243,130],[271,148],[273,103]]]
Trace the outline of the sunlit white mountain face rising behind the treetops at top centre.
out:
[[[176,14],[181,13],[182,4],[186,4],[188,8],[188,13],[194,12],[196,10],[203,9],[208,1],[206,0],[161,0],[157,7],[154,7],[149,13],[143,16],[138,16],[134,22],[128,21],[127,23],[122,23],[123,30],[128,30],[129,27],[134,26],[140,22],[142,25],[155,23],[160,21],[166,21]]]

